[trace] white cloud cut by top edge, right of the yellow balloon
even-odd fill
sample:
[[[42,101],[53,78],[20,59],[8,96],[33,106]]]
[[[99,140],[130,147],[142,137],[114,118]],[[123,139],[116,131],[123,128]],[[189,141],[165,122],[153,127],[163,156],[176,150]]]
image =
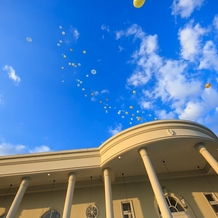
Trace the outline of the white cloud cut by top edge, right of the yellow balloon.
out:
[[[200,9],[203,2],[204,0],[173,0],[172,14],[188,18],[195,9]]]

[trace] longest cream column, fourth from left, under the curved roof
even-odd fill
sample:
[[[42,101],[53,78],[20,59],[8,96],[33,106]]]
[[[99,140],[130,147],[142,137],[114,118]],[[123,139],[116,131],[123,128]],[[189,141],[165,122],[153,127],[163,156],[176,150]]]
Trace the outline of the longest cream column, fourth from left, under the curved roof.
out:
[[[172,218],[171,212],[170,212],[170,210],[168,208],[166,199],[164,197],[163,190],[162,190],[162,188],[160,186],[160,183],[159,183],[159,181],[157,179],[157,175],[156,175],[156,173],[154,171],[154,168],[153,168],[153,166],[151,164],[151,161],[150,161],[150,158],[148,156],[148,153],[147,153],[146,149],[141,148],[139,150],[139,153],[140,153],[140,155],[142,157],[142,160],[144,162],[145,169],[147,171],[148,178],[150,180],[153,192],[154,192],[155,197],[157,199],[157,203],[158,203],[158,206],[160,208],[162,217],[163,218]]]

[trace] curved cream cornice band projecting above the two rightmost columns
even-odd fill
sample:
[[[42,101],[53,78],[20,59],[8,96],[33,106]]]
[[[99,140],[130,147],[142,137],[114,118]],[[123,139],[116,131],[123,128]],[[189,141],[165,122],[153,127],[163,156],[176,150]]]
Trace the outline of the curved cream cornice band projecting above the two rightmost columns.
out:
[[[169,130],[173,134],[169,134]],[[171,139],[198,139],[218,143],[211,130],[197,123],[181,120],[155,121],[122,131],[103,143],[100,146],[101,166],[128,150]]]

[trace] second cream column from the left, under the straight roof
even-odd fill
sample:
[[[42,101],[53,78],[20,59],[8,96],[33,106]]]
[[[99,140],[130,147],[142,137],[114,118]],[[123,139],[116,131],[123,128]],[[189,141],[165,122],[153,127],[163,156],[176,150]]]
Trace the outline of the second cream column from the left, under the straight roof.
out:
[[[62,218],[70,218],[75,182],[76,182],[76,174],[70,173]]]

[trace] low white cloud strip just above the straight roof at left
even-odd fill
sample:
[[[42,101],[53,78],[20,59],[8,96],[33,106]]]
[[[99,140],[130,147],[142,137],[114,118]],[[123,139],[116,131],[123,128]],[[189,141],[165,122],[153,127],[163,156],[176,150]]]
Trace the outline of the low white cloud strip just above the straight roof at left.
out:
[[[38,153],[38,152],[48,152],[51,149],[46,146],[37,146],[33,149],[30,149],[28,146],[25,145],[14,145],[10,143],[1,143],[0,144],[0,156],[5,155],[15,155],[15,154],[25,154],[25,153]]]

